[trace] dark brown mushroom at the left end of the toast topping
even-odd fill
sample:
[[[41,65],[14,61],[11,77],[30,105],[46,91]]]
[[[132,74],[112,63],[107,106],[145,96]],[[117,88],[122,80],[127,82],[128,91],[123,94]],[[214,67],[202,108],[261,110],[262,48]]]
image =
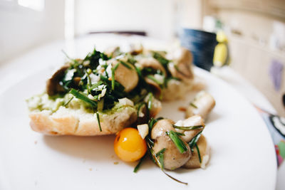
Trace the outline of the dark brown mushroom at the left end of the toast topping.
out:
[[[56,95],[57,93],[63,93],[65,91],[59,82],[64,77],[68,68],[69,65],[63,65],[46,81],[46,93],[48,93],[48,95]]]

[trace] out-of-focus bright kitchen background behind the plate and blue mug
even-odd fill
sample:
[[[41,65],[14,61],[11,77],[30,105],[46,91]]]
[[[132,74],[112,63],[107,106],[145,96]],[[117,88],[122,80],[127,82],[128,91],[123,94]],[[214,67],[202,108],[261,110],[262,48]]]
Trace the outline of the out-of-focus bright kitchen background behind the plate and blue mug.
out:
[[[229,65],[285,116],[284,0],[0,0],[0,28],[0,66],[44,44],[92,33],[174,43],[183,41],[182,28],[219,33],[226,59],[215,67]]]

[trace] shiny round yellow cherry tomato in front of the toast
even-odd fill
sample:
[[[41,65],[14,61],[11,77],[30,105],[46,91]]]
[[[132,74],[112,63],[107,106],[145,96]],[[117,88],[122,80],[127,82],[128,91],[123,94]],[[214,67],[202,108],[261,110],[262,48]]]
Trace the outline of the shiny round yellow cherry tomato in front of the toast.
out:
[[[147,152],[145,139],[140,137],[138,130],[134,128],[125,128],[115,137],[115,154],[125,162],[134,162]]]

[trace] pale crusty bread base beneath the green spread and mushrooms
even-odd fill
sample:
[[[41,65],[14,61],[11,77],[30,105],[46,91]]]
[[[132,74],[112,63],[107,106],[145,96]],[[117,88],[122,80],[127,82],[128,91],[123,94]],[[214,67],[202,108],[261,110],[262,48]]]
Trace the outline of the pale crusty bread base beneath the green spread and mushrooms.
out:
[[[112,113],[100,112],[100,125],[96,114],[85,110],[73,110],[60,107],[56,112],[48,110],[33,111],[29,114],[31,129],[36,132],[50,135],[77,135],[96,136],[115,134],[124,127],[132,125],[137,120],[137,112],[134,107],[121,107]]]

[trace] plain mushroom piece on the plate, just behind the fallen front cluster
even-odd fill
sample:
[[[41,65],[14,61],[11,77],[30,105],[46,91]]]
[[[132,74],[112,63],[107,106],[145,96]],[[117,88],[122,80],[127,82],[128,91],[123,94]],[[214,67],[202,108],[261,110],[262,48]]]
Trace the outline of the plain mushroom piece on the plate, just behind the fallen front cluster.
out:
[[[192,115],[201,115],[205,120],[209,112],[212,111],[216,102],[214,97],[205,91],[199,92],[194,101],[190,103],[185,112],[185,117],[190,117]]]

